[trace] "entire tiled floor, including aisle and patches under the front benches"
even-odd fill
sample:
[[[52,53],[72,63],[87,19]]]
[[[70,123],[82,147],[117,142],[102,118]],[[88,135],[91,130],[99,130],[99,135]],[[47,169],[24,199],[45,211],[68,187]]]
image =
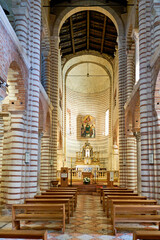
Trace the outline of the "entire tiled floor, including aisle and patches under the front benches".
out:
[[[70,219],[70,224],[66,224],[65,234],[53,229],[52,223],[30,223],[23,225],[25,229],[48,229],[48,239],[50,240],[132,240],[133,229],[155,228],[156,226],[119,224],[119,233],[112,234],[110,219],[102,210],[99,196],[79,195],[76,211]],[[11,229],[11,218],[0,219],[0,228]],[[128,229],[131,232],[126,232]]]

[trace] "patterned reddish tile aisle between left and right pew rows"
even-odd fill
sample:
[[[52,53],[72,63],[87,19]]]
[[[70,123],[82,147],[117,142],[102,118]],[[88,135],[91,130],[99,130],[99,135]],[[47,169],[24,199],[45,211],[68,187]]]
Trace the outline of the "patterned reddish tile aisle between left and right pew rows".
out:
[[[77,209],[70,224],[66,225],[66,232],[87,234],[109,234],[112,232],[110,220],[107,219],[102,209],[99,196],[78,196]]]

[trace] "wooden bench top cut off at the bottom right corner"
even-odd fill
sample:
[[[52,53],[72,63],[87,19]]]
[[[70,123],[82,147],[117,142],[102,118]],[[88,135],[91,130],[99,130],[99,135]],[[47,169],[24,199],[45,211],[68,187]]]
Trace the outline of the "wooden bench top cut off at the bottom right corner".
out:
[[[156,240],[160,239],[160,231],[135,231],[133,233],[133,240],[143,239],[143,240]]]

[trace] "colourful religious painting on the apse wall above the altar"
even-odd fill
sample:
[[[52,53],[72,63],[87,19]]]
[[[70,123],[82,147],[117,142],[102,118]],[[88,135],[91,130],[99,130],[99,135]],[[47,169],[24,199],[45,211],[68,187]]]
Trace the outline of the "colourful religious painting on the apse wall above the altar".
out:
[[[82,118],[81,137],[95,138],[95,118],[87,115]]]

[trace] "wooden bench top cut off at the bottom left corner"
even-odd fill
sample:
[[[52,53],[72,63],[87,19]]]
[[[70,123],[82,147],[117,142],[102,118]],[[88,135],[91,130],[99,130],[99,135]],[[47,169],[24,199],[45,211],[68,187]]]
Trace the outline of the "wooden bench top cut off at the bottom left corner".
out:
[[[0,238],[24,238],[47,240],[46,230],[0,230]]]

